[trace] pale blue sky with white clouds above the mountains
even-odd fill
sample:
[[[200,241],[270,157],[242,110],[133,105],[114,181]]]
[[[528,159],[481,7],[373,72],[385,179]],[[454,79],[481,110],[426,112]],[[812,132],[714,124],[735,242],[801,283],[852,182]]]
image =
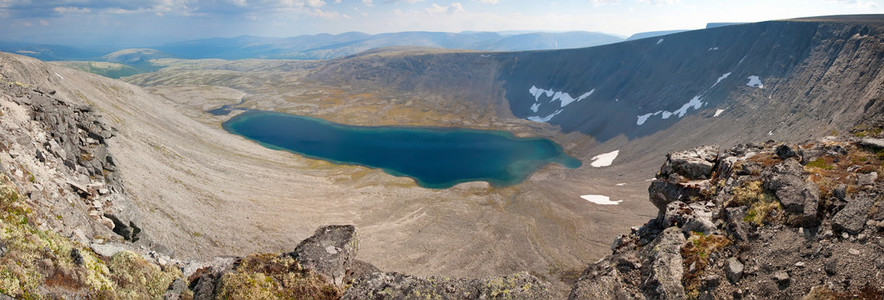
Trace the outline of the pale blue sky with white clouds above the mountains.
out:
[[[710,22],[870,13],[884,13],[884,0],[0,0],[0,40],[137,47],[349,31],[594,31],[627,37]]]

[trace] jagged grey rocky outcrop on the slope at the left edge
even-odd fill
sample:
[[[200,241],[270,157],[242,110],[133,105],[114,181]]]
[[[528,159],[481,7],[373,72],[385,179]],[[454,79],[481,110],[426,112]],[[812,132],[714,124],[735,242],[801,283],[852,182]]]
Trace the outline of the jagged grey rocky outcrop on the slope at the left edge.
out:
[[[142,229],[137,225],[137,212],[131,209],[134,205],[108,150],[107,142],[114,137],[115,129],[91,106],[59,98],[53,90],[7,82],[0,77],[0,95],[8,101],[0,106],[6,106],[9,113],[0,143],[10,156],[16,156],[18,162],[27,166],[23,167],[29,173],[26,179],[35,183],[26,189],[28,197],[34,201],[57,201],[61,200],[60,192],[69,192],[77,196],[76,202],[86,204],[85,211],[74,208],[75,214],[88,215],[93,222],[127,241],[138,241]],[[23,128],[21,124],[34,127]],[[43,177],[50,177],[53,172],[62,175],[61,182]],[[58,211],[51,214],[64,215]],[[73,225],[66,228],[69,231],[84,227],[69,225]]]

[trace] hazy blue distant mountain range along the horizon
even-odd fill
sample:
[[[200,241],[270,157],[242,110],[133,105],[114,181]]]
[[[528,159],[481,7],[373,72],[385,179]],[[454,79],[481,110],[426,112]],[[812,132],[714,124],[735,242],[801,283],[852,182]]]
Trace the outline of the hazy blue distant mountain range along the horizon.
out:
[[[139,58],[157,56],[183,59],[332,59],[362,51],[392,47],[415,46],[481,51],[524,51],[583,48],[623,41],[619,36],[598,32],[397,32],[367,34],[301,35],[288,38],[239,36],[208,38],[154,45],[143,49],[96,47],[91,49],[64,45],[41,45],[0,41],[0,51],[18,53],[42,60],[106,61],[124,64],[140,62]],[[118,51],[124,51],[119,53]],[[134,56],[133,56],[134,54]],[[123,58],[120,58],[123,57]],[[149,58],[148,58],[149,59]]]

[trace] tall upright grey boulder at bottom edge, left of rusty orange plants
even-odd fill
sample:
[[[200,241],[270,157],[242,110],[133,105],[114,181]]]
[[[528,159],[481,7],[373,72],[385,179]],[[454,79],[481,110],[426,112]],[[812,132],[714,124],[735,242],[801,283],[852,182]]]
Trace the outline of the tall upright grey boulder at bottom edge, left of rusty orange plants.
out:
[[[646,261],[642,263],[641,290],[648,299],[684,299],[681,284],[684,266],[681,247],[684,235],[677,227],[663,231],[646,249]]]

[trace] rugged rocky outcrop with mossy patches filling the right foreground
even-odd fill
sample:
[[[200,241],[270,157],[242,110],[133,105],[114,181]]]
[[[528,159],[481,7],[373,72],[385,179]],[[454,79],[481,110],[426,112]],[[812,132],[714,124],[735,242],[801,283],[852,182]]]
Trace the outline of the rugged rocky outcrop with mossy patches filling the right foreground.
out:
[[[864,179],[884,169],[881,151],[828,137],[716,153],[709,184],[674,190],[677,200],[616,239],[570,298],[881,297],[884,182]],[[657,180],[677,185],[661,177],[687,173],[661,172]]]

